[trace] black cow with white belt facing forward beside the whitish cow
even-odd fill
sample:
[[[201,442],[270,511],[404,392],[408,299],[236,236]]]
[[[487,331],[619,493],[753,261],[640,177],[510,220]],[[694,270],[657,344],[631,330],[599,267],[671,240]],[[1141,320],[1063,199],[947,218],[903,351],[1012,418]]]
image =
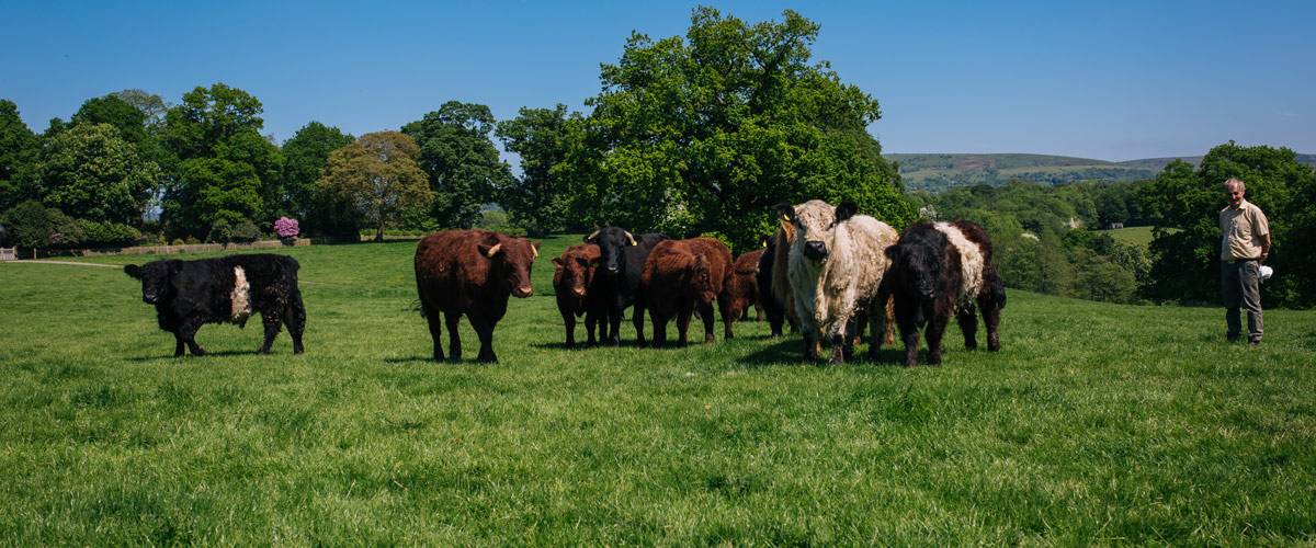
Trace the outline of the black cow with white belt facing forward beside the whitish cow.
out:
[[[941,339],[954,315],[965,347],[978,347],[976,309],[987,323],[987,350],[1000,350],[1005,285],[992,264],[987,233],[969,221],[919,223],[887,248],[891,271],[883,294],[895,300],[905,365],[919,364],[919,329],[926,325],[928,363],[941,363]]]

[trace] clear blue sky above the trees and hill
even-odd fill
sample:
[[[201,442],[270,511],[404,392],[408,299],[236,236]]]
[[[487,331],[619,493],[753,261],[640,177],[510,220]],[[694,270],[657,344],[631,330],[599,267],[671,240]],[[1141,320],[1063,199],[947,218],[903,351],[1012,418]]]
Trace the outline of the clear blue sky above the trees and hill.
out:
[[[1316,152],[1316,1],[707,3],[791,8],[815,58],[879,100],[887,152],[1111,160],[1221,142]],[[396,129],[443,101],[583,109],[632,30],[684,33],[696,3],[28,3],[0,0],[0,97],[33,130],[141,88],[224,81],[279,141],[308,121]]]

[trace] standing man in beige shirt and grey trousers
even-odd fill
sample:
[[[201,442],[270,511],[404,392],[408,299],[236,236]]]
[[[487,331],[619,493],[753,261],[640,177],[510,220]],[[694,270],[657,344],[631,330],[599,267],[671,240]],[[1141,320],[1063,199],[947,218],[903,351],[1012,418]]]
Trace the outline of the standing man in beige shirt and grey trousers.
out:
[[[1261,208],[1242,198],[1242,180],[1224,183],[1229,205],[1220,210],[1220,285],[1225,297],[1225,339],[1238,340],[1238,306],[1248,310],[1248,342],[1261,344],[1261,263],[1270,256],[1270,225]]]

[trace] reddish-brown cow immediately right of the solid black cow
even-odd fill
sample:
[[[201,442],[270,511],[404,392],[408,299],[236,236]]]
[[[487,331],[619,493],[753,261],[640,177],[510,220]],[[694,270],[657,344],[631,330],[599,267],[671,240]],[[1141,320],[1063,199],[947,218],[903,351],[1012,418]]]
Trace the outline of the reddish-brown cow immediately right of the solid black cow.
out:
[[[666,344],[667,321],[676,318],[678,340],[687,343],[690,315],[697,310],[704,321],[704,342],[713,340],[713,300],[722,313],[725,335],[732,338],[730,300],[726,279],[732,273],[732,252],[712,238],[663,240],[645,259],[640,292],[649,302],[654,323],[654,346]]]

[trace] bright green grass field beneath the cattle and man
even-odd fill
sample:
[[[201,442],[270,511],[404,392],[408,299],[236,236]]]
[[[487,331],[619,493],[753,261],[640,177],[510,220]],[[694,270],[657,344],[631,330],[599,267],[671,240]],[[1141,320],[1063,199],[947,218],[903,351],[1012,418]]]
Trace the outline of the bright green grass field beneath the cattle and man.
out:
[[[288,250],[300,356],[287,335],[251,354],[253,323],[167,357],[121,271],[0,264],[0,539],[1316,541],[1316,313],[1267,311],[1249,348],[1221,340],[1217,309],[1012,292],[1004,350],[965,351],[953,327],[940,368],[895,367],[896,350],[804,365],[753,322],[707,346],[567,351],[544,258],[497,327],[500,364],[436,364],[413,248]]]

